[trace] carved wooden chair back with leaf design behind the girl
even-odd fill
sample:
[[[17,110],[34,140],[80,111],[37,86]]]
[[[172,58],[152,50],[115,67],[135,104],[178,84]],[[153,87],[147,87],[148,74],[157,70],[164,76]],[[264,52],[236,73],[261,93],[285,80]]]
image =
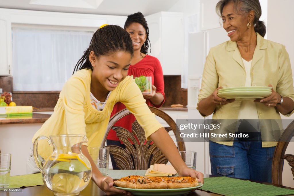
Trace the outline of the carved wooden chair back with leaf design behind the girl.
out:
[[[166,124],[169,126],[165,127],[167,132],[171,130],[173,131],[176,136],[178,150],[186,150],[185,143],[183,138],[180,137],[180,130],[178,129],[175,121],[158,108],[149,106],[149,109],[156,116],[165,120]],[[107,135],[110,129],[113,129],[116,131],[118,138],[126,146],[126,148],[123,149],[115,145],[108,145],[108,147],[110,147],[110,153],[113,155],[113,158],[116,161],[116,166],[119,169],[147,170],[150,165],[154,165],[155,163],[166,164],[168,162],[167,158],[151,140],[146,141],[144,129],[141,125],[139,125],[137,120],[132,123],[131,133],[124,128],[113,126],[118,120],[130,113],[131,112],[128,109],[124,109],[113,115],[113,117],[109,120],[106,134],[103,138],[101,146],[105,145]],[[129,140],[131,140],[133,144]]]

